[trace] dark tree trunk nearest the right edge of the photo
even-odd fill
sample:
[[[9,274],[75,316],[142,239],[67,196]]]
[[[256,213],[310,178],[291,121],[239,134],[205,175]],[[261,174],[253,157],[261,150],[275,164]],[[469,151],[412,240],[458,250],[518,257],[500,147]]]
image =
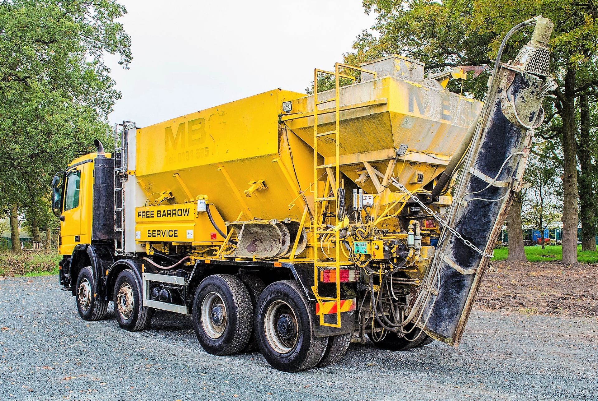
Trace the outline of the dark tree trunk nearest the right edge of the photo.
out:
[[[590,105],[588,95],[579,97],[579,117],[581,130],[579,133],[579,209],[581,215],[581,250],[596,251],[596,221],[594,220],[596,193],[594,191],[594,165],[591,159],[590,138]]]

